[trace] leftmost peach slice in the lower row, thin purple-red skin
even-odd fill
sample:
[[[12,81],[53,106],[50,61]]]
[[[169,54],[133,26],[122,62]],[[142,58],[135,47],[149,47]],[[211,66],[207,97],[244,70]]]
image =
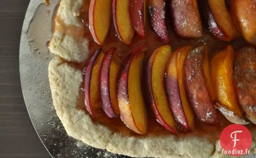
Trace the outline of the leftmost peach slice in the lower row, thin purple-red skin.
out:
[[[102,109],[99,92],[99,74],[104,55],[103,51],[98,49],[85,68],[85,106],[89,113],[96,118],[100,117],[100,110]]]

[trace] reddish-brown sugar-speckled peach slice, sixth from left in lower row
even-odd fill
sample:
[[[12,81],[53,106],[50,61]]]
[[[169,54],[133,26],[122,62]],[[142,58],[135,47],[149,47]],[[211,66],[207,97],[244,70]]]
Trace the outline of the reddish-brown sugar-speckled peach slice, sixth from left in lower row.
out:
[[[198,120],[203,123],[215,124],[220,123],[223,116],[213,106],[204,79],[202,56],[205,47],[207,46],[202,45],[192,49],[184,61],[185,90]]]

